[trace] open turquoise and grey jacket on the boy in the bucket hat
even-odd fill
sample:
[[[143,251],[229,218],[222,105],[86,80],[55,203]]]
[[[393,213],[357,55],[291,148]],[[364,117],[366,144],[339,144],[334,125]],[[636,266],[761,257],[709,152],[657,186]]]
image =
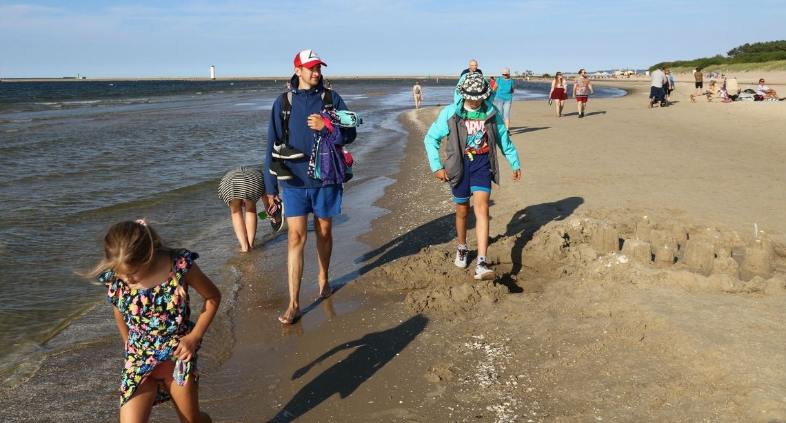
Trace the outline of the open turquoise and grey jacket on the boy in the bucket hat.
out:
[[[463,80],[464,77],[461,77]],[[464,97],[456,93],[454,104],[448,105],[439,112],[437,120],[432,123],[428,133],[424,137],[426,154],[428,154],[428,164],[432,172],[445,169],[448,182],[455,187],[464,175],[464,151],[467,146],[467,127],[464,119],[461,118],[461,108],[464,108]],[[499,165],[497,159],[497,147],[501,149],[505,159],[508,159],[512,170],[520,170],[519,153],[516,146],[510,140],[508,129],[505,122],[497,119],[499,111],[489,100],[483,100],[486,111],[486,133],[489,140],[489,165],[491,167],[492,180],[499,184]],[[439,144],[444,137],[447,137],[446,159],[443,164],[439,159]]]

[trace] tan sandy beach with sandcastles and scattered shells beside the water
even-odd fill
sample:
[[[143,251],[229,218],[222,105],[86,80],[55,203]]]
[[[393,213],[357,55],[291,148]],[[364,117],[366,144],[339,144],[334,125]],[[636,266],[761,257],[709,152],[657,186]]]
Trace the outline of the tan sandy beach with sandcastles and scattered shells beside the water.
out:
[[[438,110],[403,115],[406,159],[379,205],[392,213],[361,237],[362,276],[277,341],[272,316],[238,312],[233,359],[204,379],[208,410],[786,421],[786,104],[678,92],[648,110],[648,84],[622,86],[629,95],[591,99],[584,119],[570,100],[560,119],[545,101],[514,104],[523,180],[504,170],[492,195],[495,283],[452,263],[450,190],[422,144]],[[266,283],[249,280],[238,310],[259,307],[247,294]]]

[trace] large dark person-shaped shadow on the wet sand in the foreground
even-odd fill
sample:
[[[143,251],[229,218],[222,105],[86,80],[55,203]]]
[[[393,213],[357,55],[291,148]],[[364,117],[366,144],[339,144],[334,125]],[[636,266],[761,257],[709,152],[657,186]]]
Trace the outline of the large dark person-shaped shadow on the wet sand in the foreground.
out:
[[[333,354],[347,348],[354,348],[346,359],[333,364],[300,388],[295,396],[281,407],[276,416],[270,419],[270,422],[293,421],[336,393],[342,399],[347,398],[377,370],[402,352],[418,334],[423,332],[427,324],[428,319],[424,315],[414,315],[399,326],[338,345],[299,368],[292,374],[292,380],[304,376],[314,365]]]

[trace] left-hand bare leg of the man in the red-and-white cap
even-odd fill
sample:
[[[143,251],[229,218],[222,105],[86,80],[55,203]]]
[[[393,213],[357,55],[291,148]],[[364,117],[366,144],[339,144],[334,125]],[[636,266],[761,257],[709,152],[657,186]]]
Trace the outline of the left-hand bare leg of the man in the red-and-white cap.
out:
[[[308,216],[287,217],[287,274],[289,280],[289,307],[278,318],[281,323],[292,324],[300,318],[300,283],[303,280],[303,247],[306,246]]]

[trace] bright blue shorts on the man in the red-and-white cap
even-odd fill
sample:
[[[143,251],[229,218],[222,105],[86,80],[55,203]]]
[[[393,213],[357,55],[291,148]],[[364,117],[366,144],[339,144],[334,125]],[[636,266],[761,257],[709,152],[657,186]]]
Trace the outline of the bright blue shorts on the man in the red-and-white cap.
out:
[[[343,185],[328,185],[321,188],[284,188],[281,201],[284,202],[284,216],[314,216],[325,219],[341,214]]]

